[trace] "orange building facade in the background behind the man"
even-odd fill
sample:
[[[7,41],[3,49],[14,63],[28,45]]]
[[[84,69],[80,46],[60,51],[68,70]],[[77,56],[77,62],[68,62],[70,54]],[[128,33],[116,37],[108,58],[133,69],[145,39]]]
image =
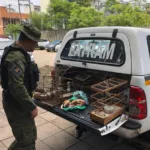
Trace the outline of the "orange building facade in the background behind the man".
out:
[[[28,22],[29,14],[11,12],[6,7],[0,6],[0,34],[4,34],[4,30],[8,24],[17,24],[20,23],[20,20]]]

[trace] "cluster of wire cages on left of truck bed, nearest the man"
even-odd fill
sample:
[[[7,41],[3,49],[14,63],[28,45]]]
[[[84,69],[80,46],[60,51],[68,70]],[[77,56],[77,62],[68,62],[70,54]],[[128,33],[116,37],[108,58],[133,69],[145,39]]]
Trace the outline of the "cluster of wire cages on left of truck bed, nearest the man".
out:
[[[60,105],[68,99],[71,96],[71,79],[62,76],[66,69],[54,70],[54,67],[50,66],[41,68],[38,84],[38,89],[41,90],[37,90],[41,92],[36,92],[34,97],[51,107]]]

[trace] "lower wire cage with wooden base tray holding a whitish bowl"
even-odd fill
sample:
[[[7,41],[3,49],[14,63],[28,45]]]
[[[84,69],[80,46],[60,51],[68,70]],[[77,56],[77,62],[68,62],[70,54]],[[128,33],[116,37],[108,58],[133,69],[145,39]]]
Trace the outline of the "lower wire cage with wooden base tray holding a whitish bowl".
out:
[[[128,92],[109,93],[99,92],[91,96],[93,103],[91,105],[95,108],[90,113],[93,121],[106,125],[117,116],[124,113],[128,103]]]

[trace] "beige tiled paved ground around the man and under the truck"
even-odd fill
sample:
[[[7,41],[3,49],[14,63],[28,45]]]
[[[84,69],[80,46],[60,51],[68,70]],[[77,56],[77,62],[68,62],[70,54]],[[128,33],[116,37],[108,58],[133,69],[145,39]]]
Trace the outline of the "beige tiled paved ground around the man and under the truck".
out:
[[[46,51],[36,51],[34,55],[40,67],[52,65],[55,58],[55,53]],[[14,138],[1,101],[0,95],[0,150],[7,150]],[[112,135],[100,137],[87,132],[80,140],[77,140],[74,137],[75,125],[73,123],[41,108],[36,118],[36,125],[38,129],[37,150],[137,150],[129,145],[117,143],[116,137]]]

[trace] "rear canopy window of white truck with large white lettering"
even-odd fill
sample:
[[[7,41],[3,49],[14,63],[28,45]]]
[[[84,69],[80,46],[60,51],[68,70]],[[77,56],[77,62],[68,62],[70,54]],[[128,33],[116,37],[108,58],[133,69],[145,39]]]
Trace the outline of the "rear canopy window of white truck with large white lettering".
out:
[[[62,51],[61,59],[120,66],[125,61],[124,44],[114,39],[70,40]]]

